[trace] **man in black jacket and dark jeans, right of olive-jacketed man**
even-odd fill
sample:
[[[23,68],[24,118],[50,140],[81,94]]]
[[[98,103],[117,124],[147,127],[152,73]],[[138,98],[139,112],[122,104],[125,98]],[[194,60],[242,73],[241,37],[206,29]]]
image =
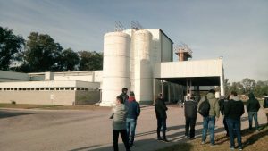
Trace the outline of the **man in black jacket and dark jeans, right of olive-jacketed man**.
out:
[[[224,113],[228,124],[230,135],[230,149],[234,149],[234,131],[238,138],[239,150],[242,150],[242,138],[241,138],[241,116],[244,111],[244,104],[239,99],[238,94],[234,91],[230,93],[230,101],[224,107]]]

